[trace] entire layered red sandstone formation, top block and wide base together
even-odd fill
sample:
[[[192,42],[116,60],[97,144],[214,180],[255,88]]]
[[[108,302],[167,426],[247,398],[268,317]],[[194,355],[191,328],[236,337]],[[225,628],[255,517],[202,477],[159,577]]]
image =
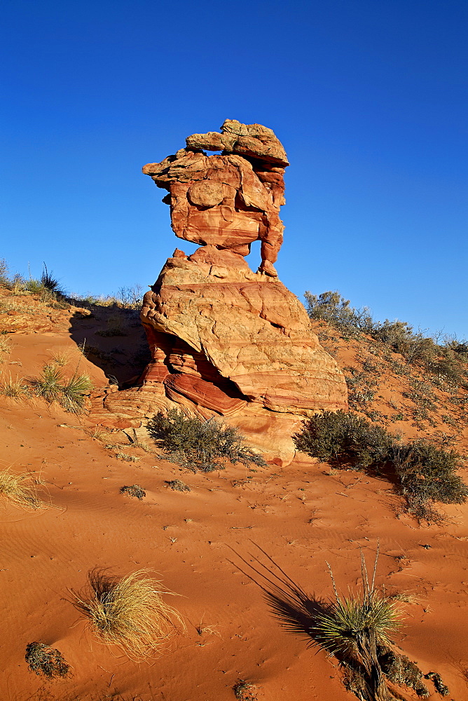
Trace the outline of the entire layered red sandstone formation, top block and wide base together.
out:
[[[272,130],[226,120],[221,134],[192,135],[186,149],[144,166],[169,191],[163,201],[176,236],[200,247],[191,256],[176,250],[144,296],[152,362],[139,388],[104,400],[122,426],[181,406],[225,417],[267,458],[287,464],[301,418],[347,407],[343,374],[273,267],[287,165]],[[245,260],[254,240],[256,273]]]

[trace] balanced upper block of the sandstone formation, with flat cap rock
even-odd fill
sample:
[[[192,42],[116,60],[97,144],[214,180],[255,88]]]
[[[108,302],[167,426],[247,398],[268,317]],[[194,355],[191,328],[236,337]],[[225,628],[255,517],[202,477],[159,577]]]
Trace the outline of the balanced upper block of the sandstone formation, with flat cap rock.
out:
[[[288,165],[286,154],[273,131],[262,125],[227,119],[221,130],[188,137],[186,149],[148,163],[143,172],[169,191],[163,201],[171,206],[176,236],[240,256],[261,240],[259,270],[275,277],[284,229],[284,168],[278,165]],[[207,156],[200,149],[222,149],[223,154]]]

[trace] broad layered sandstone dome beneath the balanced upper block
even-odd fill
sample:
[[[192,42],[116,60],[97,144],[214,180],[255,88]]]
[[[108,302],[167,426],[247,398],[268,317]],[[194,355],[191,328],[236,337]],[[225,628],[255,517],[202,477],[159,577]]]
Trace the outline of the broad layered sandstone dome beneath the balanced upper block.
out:
[[[247,404],[298,416],[347,408],[343,374],[295,295],[247,266],[231,268],[228,252],[217,264],[194,255],[168,259],[144,297],[153,362],[143,383],[222,416]]]

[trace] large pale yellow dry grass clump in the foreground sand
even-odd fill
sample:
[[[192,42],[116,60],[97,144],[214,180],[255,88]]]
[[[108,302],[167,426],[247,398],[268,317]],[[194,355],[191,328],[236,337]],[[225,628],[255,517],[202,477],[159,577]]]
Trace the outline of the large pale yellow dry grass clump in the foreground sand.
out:
[[[175,622],[185,627],[181,615],[163,601],[163,594],[173,592],[147,577],[147,572],[142,569],[117,579],[93,570],[83,591],[71,591],[71,603],[86,618],[89,629],[132,660],[158,653],[176,631]]]

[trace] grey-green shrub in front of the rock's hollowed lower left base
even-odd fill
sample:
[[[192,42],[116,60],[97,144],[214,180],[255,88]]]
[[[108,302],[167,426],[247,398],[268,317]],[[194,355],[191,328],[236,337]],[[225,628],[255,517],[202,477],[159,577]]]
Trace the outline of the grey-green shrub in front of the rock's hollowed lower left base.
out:
[[[192,470],[223,470],[226,463],[259,465],[266,462],[244,444],[237,428],[214,418],[202,421],[171,409],[167,416],[160,411],[147,426],[151,437],[163,449],[163,456]]]

